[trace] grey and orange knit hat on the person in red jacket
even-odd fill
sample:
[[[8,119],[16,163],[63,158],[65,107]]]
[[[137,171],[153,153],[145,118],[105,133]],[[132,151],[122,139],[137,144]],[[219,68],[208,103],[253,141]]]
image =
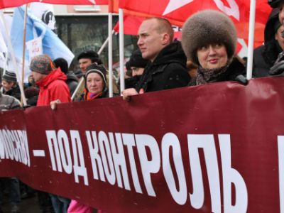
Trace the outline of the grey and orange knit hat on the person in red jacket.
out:
[[[37,55],[31,60],[30,70],[33,72],[48,75],[54,69],[55,65],[48,55]]]

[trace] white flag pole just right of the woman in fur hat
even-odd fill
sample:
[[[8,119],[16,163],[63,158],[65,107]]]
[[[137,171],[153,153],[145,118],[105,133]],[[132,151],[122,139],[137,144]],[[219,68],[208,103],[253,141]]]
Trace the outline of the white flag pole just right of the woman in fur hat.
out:
[[[254,40],[254,26],[256,21],[256,0],[251,0],[250,14],[249,14],[249,50],[248,50],[248,64],[246,67],[246,79],[251,80],[253,71],[253,40]]]

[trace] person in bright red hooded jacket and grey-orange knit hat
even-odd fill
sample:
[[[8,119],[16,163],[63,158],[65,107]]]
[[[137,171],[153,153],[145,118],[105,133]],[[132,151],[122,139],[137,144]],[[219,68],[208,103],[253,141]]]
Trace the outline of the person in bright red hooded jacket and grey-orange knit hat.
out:
[[[60,68],[55,68],[48,55],[38,55],[31,60],[31,76],[40,87],[37,106],[49,105],[60,99],[60,102],[71,102],[70,92],[66,84],[67,77]]]

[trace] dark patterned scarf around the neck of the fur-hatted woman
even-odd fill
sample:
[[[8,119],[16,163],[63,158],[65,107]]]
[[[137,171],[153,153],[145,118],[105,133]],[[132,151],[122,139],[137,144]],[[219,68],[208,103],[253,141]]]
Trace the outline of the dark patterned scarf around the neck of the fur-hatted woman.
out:
[[[211,82],[218,82],[219,78],[228,70],[229,64],[224,67],[216,69],[206,69],[201,66],[197,68],[196,84],[207,84]]]

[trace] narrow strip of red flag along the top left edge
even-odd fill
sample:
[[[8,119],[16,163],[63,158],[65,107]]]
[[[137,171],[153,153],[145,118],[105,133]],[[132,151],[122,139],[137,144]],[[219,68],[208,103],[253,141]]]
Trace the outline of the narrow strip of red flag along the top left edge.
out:
[[[42,0],[42,1],[40,0],[13,0],[13,1],[0,0],[0,9],[21,6],[23,4],[28,4],[31,2],[41,2],[41,3],[48,3],[48,4],[90,4],[90,5],[109,4],[108,0]]]

